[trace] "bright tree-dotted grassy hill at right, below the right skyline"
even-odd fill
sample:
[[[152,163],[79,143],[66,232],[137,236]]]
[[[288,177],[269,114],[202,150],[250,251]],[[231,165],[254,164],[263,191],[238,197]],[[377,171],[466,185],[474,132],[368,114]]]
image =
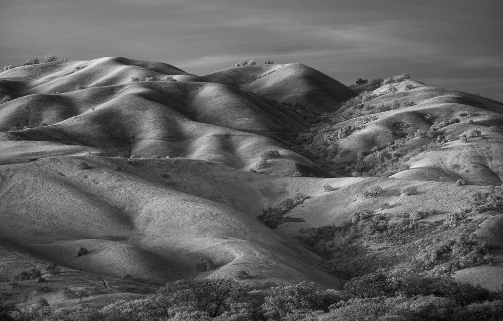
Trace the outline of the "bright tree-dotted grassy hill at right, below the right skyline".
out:
[[[412,84],[413,89],[404,90],[406,84]],[[384,92],[388,86],[381,87],[374,93]],[[499,185],[503,179],[503,104],[496,101],[454,90],[432,88],[423,83],[407,80],[396,84],[396,93],[385,94],[365,102],[368,106],[356,110],[354,107],[344,114],[361,112],[365,116],[350,119],[337,124],[334,130],[348,126],[354,127],[357,122],[369,117],[378,117],[364,125],[365,128],[352,132],[347,138],[333,143],[333,147],[348,149],[344,157],[336,156],[333,162],[342,163],[356,161],[359,150],[370,153],[374,146],[378,148],[389,142],[390,133],[394,137],[414,135],[418,129],[427,133],[435,122],[449,122],[453,118],[459,122],[439,126],[437,133],[442,137],[451,137],[442,148],[424,151],[411,158],[405,165],[409,170],[393,175],[395,178],[426,181],[456,182],[463,179],[467,184]],[[413,101],[415,105],[404,107],[404,103]],[[379,112],[383,104],[399,103],[399,109]],[[370,108],[369,108],[370,107]],[[367,110],[365,110],[367,109]],[[369,110],[370,109],[370,110]],[[400,128],[400,122],[408,126]],[[496,131],[491,128],[496,126]],[[481,137],[470,137],[475,130]],[[466,143],[458,137],[465,134]],[[413,152],[427,143],[428,136],[415,137],[408,140],[396,152],[403,156]],[[388,155],[391,157],[391,155]]]

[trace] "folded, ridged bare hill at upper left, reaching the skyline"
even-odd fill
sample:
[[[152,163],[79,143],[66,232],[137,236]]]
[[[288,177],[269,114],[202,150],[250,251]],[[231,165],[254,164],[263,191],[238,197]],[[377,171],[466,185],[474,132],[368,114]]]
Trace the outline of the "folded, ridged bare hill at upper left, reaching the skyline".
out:
[[[138,70],[178,81],[131,82]],[[302,118],[257,94],[180,78],[186,74],[171,65],[102,58],[8,71],[0,76],[14,82],[11,95],[18,98],[0,106],[0,131],[11,130],[18,139],[101,148],[111,155],[199,158],[245,170],[264,151],[278,149],[281,166],[270,163],[266,173],[295,175],[296,164],[315,169],[264,137],[301,131],[309,126]],[[75,90],[76,84],[87,88]]]

